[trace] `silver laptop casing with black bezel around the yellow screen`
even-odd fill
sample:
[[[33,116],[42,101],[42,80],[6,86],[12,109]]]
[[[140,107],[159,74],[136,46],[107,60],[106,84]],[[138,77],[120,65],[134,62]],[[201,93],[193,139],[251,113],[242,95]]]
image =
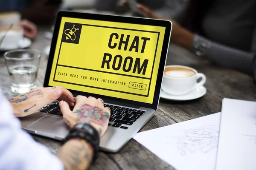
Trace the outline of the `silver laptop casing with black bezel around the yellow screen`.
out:
[[[156,24],[158,26],[163,26],[166,28],[165,31],[165,37],[164,37],[164,43],[162,47],[161,52],[161,60],[159,65],[159,71],[157,75],[157,83],[156,88],[154,91],[154,102],[153,104],[148,104],[148,107],[143,107],[143,104],[134,105],[130,104],[129,102],[119,102],[119,100],[116,99],[105,99],[104,96],[101,98],[105,101],[105,106],[111,106],[114,108],[113,110],[120,109],[121,111],[126,111],[128,115],[132,112],[132,117],[138,118],[136,121],[132,117],[126,117],[125,121],[124,114],[120,113],[122,116],[122,119],[119,119],[119,122],[115,122],[114,119],[115,116],[111,116],[108,130],[102,136],[100,140],[100,147],[104,151],[108,152],[117,152],[119,151],[142,127],[145,125],[146,122],[148,122],[149,119],[154,115],[155,111],[157,110],[158,103],[159,103],[159,96],[160,96],[160,89],[162,84],[162,78],[163,78],[163,71],[166,63],[166,55],[169,47],[169,39],[170,39],[170,32],[171,32],[171,23],[169,21],[164,20],[151,20],[151,19],[143,19],[143,18],[135,18],[135,17],[121,17],[121,16],[108,16],[108,15],[99,15],[99,14],[86,14],[86,13],[75,13],[75,12],[64,12],[61,11],[58,13],[56,25],[55,25],[55,31],[53,39],[52,39],[52,46],[51,46],[51,52],[49,55],[50,57],[53,56],[55,51],[55,39],[57,39],[58,34],[58,28],[60,24],[61,17],[74,17],[74,18],[90,18],[94,20],[111,20],[111,21],[121,21],[124,22],[134,22],[140,24],[141,21],[144,24],[150,24],[153,25]],[[46,79],[49,81],[49,76],[47,74],[50,73],[51,62],[48,62],[47,71],[46,71]],[[44,82],[44,87],[49,87],[47,84],[47,81]],[[75,96],[77,95],[84,95],[83,92],[79,91],[71,91]],[[99,95],[98,95],[99,96]],[[58,105],[58,103],[56,103]],[[124,109],[125,108],[125,109]],[[53,109],[50,109],[51,111]],[[130,112],[131,111],[131,112]],[[117,113],[117,112],[116,112]],[[120,115],[119,114],[119,115]],[[129,121],[131,119],[131,121]],[[37,111],[32,115],[22,117],[20,118],[22,128],[26,130],[29,133],[36,134],[39,136],[45,136],[51,139],[56,140],[63,140],[67,134],[69,133],[70,127],[66,125],[64,122],[64,119],[61,115],[51,114],[51,113],[45,113],[42,111]],[[120,123],[121,122],[121,123]],[[125,122],[125,123],[122,123]]]

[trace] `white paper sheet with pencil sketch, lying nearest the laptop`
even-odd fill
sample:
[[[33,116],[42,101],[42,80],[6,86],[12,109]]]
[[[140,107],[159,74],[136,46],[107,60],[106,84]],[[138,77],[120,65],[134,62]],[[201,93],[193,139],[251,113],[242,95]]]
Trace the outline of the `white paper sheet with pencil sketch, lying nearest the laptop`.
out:
[[[214,170],[221,113],[137,133],[134,139],[177,170]]]

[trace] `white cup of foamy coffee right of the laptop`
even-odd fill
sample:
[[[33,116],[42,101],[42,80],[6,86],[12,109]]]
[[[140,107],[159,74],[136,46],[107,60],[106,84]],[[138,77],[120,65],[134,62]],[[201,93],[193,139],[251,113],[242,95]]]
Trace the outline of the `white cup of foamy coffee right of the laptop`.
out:
[[[197,82],[202,78],[200,82]],[[206,76],[194,68],[183,65],[167,65],[163,75],[162,90],[172,95],[183,95],[206,82]]]

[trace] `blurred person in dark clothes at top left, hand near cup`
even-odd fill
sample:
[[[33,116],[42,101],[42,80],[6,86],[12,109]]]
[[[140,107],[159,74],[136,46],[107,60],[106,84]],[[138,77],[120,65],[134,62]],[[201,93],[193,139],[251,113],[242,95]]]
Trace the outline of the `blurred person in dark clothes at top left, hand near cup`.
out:
[[[37,35],[36,24],[51,23],[60,5],[61,0],[2,0],[0,14],[18,11],[23,20],[16,25],[23,28],[25,37],[34,39]]]

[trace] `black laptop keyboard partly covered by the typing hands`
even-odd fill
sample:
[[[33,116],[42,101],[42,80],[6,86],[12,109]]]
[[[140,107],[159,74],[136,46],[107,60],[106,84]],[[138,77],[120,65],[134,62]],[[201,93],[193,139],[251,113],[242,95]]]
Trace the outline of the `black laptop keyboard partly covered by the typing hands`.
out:
[[[140,116],[142,116],[145,113],[145,111],[142,111],[142,110],[125,108],[125,107],[116,106],[116,105],[104,104],[104,107],[108,107],[111,109],[111,116],[109,119],[108,126],[120,127],[122,129],[128,129],[129,126],[131,126],[134,122],[136,122],[137,119],[139,119]],[[70,110],[72,111],[73,107],[70,108]],[[49,103],[48,105],[45,105],[39,111],[58,115],[58,116],[63,116],[61,113],[61,109],[58,105],[58,100],[56,100],[55,102]]]

